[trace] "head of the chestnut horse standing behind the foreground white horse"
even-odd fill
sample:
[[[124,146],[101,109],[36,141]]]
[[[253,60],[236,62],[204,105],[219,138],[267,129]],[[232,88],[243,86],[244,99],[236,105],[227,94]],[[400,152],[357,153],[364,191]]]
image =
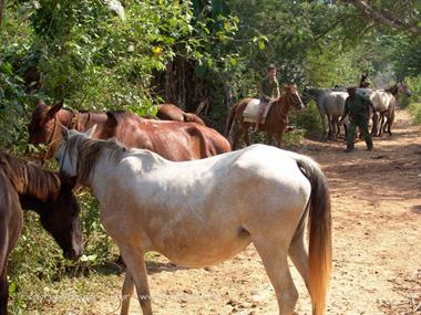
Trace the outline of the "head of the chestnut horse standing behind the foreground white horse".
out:
[[[60,122],[57,114],[63,107],[63,101],[47,106],[43,101],[38,102],[35,111],[32,113],[31,122],[28,125],[29,143],[32,145],[45,144],[49,151],[45,158],[51,158],[58,147],[60,137]]]

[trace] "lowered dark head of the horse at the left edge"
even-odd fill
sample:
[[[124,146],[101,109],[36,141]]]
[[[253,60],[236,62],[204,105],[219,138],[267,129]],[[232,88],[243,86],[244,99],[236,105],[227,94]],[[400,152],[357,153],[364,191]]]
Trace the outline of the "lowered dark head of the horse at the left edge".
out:
[[[42,227],[63,250],[64,258],[75,260],[83,252],[81,209],[72,192],[73,180],[64,175],[60,175],[60,191],[43,204],[40,219]]]

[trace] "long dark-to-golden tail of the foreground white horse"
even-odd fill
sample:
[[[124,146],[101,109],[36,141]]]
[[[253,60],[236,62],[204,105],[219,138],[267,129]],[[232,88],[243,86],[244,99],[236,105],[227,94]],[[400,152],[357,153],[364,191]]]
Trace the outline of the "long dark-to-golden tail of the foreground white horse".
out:
[[[325,314],[331,274],[330,195],[325,175],[309,158],[298,158],[297,165],[311,183],[309,207],[309,291],[312,314]]]

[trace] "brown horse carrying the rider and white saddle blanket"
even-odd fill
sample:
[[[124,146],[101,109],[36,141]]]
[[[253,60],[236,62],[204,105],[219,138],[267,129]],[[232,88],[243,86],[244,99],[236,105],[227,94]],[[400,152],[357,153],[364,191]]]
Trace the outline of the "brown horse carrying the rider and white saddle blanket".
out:
[[[245,122],[243,114],[250,101],[253,101],[253,98],[244,98],[235,104],[229,112],[225,135],[230,139],[233,149],[237,147],[238,140],[242,137],[246,145],[249,145],[248,128],[253,123]],[[260,124],[260,130],[267,133],[269,143],[271,143],[273,135],[276,134],[277,145],[280,145],[284,133],[288,126],[288,112],[291,106],[298,111],[305,107],[295,84],[289,84],[286,87],[285,94],[271,104],[265,124]]]

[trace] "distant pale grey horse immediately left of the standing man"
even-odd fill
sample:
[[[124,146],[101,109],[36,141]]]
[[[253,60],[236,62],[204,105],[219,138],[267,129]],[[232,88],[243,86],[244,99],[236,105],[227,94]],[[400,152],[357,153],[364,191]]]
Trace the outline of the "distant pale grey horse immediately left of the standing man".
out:
[[[317,88],[306,86],[302,92],[302,99],[305,102],[314,99],[319,109],[324,139],[336,139],[339,134],[339,126],[337,125],[339,117],[343,114],[345,101],[348,97],[348,93],[343,91],[331,91],[327,88]],[[327,120],[327,122],[326,122]],[[326,125],[328,124],[328,132],[326,132]]]

